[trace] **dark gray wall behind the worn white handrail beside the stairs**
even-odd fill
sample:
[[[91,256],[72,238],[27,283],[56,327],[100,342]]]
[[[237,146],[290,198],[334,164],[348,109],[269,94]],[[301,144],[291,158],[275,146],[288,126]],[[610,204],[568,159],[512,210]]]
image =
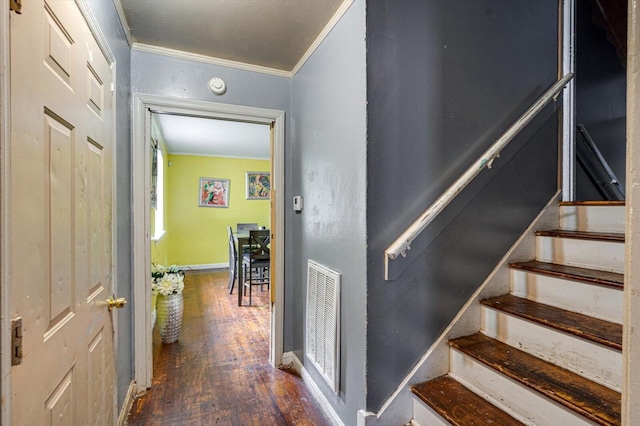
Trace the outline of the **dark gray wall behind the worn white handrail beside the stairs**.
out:
[[[557,79],[557,0],[367,3],[367,410],[557,188],[551,105],[384,281],[383,253]]]

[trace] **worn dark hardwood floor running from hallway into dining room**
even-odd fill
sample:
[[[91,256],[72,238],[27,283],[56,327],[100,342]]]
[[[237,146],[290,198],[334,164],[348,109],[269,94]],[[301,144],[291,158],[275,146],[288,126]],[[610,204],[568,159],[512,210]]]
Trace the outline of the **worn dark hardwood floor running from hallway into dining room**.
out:
[[[154,328],[152,387],[127,424],[330,425],[302,379],[269,364],[268,291],[239,307],[227,279],[187,272],[180,338],[162,344]]]

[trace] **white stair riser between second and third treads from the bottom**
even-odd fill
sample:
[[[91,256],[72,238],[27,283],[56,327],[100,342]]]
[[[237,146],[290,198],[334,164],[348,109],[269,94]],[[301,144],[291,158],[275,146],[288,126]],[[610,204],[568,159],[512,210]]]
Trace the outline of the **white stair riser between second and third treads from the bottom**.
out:
[[[621,391],[622,354],[618,350],[488,306],[482,309],[482,326],[489,337]]]

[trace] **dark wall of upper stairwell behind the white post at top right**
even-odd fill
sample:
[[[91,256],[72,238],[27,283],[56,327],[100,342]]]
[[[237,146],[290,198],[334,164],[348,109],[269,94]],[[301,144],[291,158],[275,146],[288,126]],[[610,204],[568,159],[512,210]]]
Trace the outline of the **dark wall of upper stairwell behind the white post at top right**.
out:
[[[576,1],[576,121],[585,125],[624,190],[627,73],[606,31],[593,23],[593,8],[592,0]],[[579,165],[576,198],[602,199]]]

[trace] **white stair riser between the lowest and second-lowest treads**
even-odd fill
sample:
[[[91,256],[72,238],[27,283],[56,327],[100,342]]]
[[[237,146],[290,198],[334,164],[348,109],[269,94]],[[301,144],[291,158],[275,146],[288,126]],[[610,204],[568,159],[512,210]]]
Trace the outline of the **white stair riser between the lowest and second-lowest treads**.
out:
[[[451,373],[461,383],[527,425],[582,426],[593,423],[538,392],[451,349]]]

